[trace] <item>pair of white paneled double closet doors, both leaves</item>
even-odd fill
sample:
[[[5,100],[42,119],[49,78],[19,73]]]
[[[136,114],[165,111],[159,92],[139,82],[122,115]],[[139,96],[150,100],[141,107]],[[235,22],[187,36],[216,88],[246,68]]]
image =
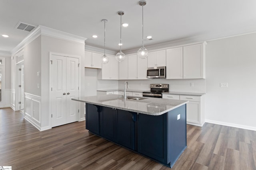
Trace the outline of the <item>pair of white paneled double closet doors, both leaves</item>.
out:
[[[52,127],[78,121],[79,59],[52,55]]]

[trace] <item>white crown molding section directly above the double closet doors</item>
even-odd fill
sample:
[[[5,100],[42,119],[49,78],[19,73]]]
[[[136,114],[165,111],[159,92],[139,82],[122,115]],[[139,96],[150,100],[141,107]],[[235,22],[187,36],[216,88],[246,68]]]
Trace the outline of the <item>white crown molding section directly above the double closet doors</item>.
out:
[[[84,44],[84,41],[87,39],[87,38],[84,38],[84,37],[80,37],[80,36],[77,36],[77,35],[74,35],[74,34],[59,31],[57,29],[52,29],[52,28],[45,27],[45,26],[42,26],[42,25],[39,25],[38,27],[41,28],[41,34],[42,35],[48,35],[50,37],[65,39],[65,40],[74,41],[74,42],[82,43],[82,44]]]

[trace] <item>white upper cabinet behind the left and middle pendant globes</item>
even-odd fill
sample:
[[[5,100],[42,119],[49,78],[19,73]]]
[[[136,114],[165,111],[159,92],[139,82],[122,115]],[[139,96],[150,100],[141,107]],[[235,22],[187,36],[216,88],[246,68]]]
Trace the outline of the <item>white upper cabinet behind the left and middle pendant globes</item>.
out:
[[[98,70],[98,79],[100,80],[118,80],[118,61],[115,57],[108,55],[107,64],[102,64],[102,69]]]

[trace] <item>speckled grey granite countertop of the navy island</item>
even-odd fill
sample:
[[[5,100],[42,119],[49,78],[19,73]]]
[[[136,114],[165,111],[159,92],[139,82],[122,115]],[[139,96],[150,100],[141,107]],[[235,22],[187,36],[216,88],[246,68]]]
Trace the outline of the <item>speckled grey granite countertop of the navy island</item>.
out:
[[[146,98],[143,100],[132,100],[122,98],[122,95],[108,94],[102,96],[88,96],[82,98],[72,98],[72,100],[79,102],[86,102],[99,106],[113,107],[126,111],[133,111],[136,113],[143,113],[147,115],[162,115],[172,109],[180,107],[188,101],[172,100],[162,98]]]

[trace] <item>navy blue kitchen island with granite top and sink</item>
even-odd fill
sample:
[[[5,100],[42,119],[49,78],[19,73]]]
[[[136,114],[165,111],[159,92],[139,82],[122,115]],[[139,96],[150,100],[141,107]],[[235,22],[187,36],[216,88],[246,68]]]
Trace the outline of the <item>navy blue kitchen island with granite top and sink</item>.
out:
[[[170,168],[186,149],[188,101],[115,94],[72,100],[86,103],[88,131]]]

